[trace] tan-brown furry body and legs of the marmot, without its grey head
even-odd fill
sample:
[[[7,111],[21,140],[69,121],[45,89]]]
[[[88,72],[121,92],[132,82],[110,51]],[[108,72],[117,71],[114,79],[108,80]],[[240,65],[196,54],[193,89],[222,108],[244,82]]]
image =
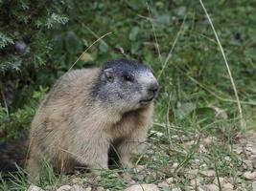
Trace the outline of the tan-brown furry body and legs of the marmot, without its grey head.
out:
[[[114,111],[92,101],[91,84],[100,69],[83,69],[63,75],[39,106],[31,125],[30,180],[38,179],[42,160],[70,172],[77,165],[107,168],[113,145],[124,166],[143,151],[151,125],[153,103],[135,111]]]

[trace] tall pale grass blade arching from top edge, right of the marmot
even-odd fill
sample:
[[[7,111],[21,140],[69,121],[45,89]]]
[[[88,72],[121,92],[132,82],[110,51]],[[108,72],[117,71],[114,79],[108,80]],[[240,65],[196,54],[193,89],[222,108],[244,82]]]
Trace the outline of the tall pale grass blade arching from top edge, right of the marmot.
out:
[[[202,0],[199,0],[199,2],[200,2],[200,5],[201,5],[201,7],[202,7],[202,9],[203,9],[203,11],[204,11],[204,13],[205,13],[205,15],[206,15],[206,17],[207,17],[209,23],[210,23],[210,25],[211,25],[211,28],[212,28],[212,30],[213,30],[213,32],[214,32],[214,35],[215,35],[216,40],[217,40],[217,42],[218,42],[218,45],[219,45],[219,47],[220,47],[221,54],[222,54],[222,56],[223,56],[224,63],[225,63],[225,66],[226,66],[226,69],[227,69],[227,72],[228,72],[228,75],[229,75],[229,78],[230,78],[230,81],[231,81],[231,84],[232,84],[232,88],[233,88],[234,94],[235,94],[235,96],[236,96],[236,101],[237,101],[238,110],[239,110],[239,116],[240,116],[240,125],[241,125],[242,128],[244,128],[244,127],[245,127],[245,120],[244,120],[244,117],[243,117],[243,111],[242,111],[240,99],[239,99],[239,96],[238,96],[238,92],[237,92],[237,88],[236,88],[236,85],[235,85],[233,76],[232,76],[232,74],[231,74],[229,65],[228,65],[228,63],[227,63],[227,59],[226,59],[225,53],[224,53],[224,51],[223,51],[223,49],[222,49],[222,46],[221,46],[221,41],[220,41],[219,36],[218,36],[218,34],[217,34],[216,30],[215,30],[215,27],[214,27],[214,25],[213,25],[213,22],[212,22],[212,20],[211,20],[209,14],[208,14],[208,12],[206,11],[206,9],[205,9],[205,7],[204,7],[204,5],[203,5],[203,3],[202,3]]]

